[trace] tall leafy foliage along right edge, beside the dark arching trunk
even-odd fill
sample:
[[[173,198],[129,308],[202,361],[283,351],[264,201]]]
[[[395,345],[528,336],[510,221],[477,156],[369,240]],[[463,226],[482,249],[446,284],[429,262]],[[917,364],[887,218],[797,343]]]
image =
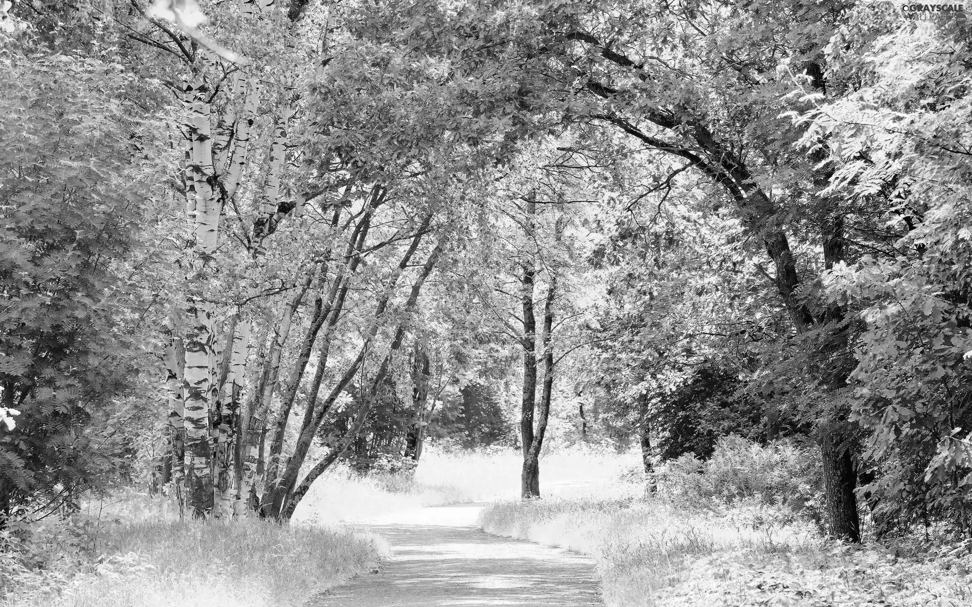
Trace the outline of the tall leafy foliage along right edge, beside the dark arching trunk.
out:
[[[863,490],[885,525],[972,533],[972,45],[952,15],[863,3],[824,50],[828,94],[798,117],[886,242],[825,277],[866,324],[846,405],[868,430]],[[821,147],[820,142],[826,141]],[[859,214],[849,215],[857,220]]]

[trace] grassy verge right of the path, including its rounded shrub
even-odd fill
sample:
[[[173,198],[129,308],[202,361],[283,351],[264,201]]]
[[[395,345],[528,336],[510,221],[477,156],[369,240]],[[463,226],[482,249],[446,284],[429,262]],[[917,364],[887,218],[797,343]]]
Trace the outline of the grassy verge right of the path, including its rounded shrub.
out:
[[[972,540],[832,542],[796,455],[727,443],[663,467],[658,496],[498,502],[480,526],[594,556],[608,607],[972,604]]]

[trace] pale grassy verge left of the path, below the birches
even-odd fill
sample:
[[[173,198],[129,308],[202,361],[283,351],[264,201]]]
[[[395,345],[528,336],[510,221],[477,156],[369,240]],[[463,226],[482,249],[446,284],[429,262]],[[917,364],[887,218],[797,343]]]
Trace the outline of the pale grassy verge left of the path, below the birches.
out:
[[[0,604],[290,607],[387,553],[377,537],[338,526],[172,521],[164,503],[128,495],[99,519],[22,529],[31,560],[0,563]]]

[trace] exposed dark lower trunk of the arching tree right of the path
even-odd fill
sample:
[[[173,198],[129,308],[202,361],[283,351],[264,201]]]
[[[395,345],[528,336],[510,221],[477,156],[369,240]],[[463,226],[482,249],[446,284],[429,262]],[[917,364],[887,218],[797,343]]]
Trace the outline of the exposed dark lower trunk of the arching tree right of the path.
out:
[[[844,425],[844,424],[840,424]],[[860,543],[860,519],[854,496],[854,475],[851,450],[843,440],[845,431],[839,424],[821,427],[820,455],[823,458],[823,482],[826,487],[827,518],[830,534],[837,539]]]

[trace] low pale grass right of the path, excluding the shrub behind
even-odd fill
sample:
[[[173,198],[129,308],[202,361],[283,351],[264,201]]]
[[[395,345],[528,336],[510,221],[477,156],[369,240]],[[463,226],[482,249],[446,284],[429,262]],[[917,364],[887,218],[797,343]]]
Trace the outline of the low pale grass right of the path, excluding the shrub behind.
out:
[[[785,509],[757,503],[501,502],[480,524],[595,556],[608,607],[972,604],[972,542],[904,558],[831,542]]]

